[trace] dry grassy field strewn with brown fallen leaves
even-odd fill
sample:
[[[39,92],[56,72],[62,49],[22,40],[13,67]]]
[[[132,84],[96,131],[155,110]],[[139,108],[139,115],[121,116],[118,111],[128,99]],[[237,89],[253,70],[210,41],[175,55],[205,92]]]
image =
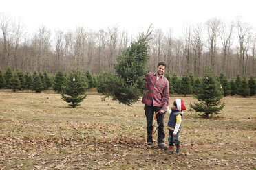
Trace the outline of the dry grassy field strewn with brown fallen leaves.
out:
[[[87,95],[68,108],[56,93],[0,91],[0,169],[255,169],[256,96],[224,97],[222,114],[202,119],[184,100],[181,151],[146,147],[143,104]],[[165,115],[166,128],[169,114]],[[153,136],[157,139],[157,134]]]

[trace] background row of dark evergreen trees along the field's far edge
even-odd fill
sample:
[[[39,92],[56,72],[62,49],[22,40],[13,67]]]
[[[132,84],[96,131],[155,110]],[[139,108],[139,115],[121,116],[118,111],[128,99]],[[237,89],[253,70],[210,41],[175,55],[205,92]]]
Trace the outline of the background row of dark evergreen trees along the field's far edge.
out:
[[[108,71],[103,71],[100,75],[92,75],[89,71],[84,73],[85,82],[87,82],[86,89],[91,87],[97,87],[99,93],[106,94],[109,83],[111,83],[112,74]],[[170,82],[170,93],[177,93],[183,95],[196,94],[200,84],[202,84],[202,78],[193,77],[191,73],[185,73],[183,77],[178,77],[176,73],[172,76],[169,73],[164,74]],[[40,93],[42,90],[46,90],[52,87],[52,89],[58,93],[62,92],[65,78],[68,77],[67,73],[58,71],[56,75],[50,75],[47,71],[25,73],[20,70],[12,71],[10,67],[7,67],[5,71],[0,70],[0,88],[11,88],[14,91],[29,89]],[[250,76],[248,80],[246,77],[237,75],[235,80],[228,80],[223,73],[220,76],[215,77],[215,80],[220,83],[222,94],[228,95],[240,95],[242,97],[253,96],[256,94],[256,79],[255,76]]]

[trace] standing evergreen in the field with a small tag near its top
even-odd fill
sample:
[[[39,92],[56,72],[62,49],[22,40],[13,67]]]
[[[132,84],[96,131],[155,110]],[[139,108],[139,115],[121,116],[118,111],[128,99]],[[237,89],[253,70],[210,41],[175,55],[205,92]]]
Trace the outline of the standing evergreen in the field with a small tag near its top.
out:
[[[75,108],[85,99],[85,91],[88,88],[85,75],[82,71],[72,69],[62,86],[61,96],[64,101],[71,103],[68,106]]]

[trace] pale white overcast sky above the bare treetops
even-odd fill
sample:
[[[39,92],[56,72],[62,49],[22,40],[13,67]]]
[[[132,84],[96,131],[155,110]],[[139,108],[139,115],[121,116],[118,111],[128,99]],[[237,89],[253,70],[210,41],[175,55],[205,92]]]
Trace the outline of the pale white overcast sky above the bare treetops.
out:
[[[0,13],[20,19],[28,33],[41,25],[54,32],[76,27],[118,27],[129,34],[152,29],[172,29],[182,34],[184,25],[219,18],[230,22],[237,16],[256,27],[255,0],[1,0]]]

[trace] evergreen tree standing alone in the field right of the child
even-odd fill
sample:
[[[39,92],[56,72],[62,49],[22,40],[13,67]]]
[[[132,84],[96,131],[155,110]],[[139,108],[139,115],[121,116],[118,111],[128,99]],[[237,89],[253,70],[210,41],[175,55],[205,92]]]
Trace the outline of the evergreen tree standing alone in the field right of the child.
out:
[[[220,110],[224,108],[224,103],[221,103],[222,90],[220,84],[215,80],[210,70],[204,73],[202,84],[195,95],[200,103],[190,104],[195,112],[201,112],[200,116],[209,118],[213,114],[219,114]]]

